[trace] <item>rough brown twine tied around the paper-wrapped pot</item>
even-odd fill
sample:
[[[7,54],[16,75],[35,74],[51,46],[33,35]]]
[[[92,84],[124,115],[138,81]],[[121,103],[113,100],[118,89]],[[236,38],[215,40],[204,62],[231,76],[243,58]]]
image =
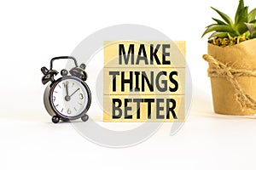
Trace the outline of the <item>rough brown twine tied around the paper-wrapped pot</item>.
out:
[[[241,105],[242,110],[256,110],[256,101],[243,91],[236,80],[236,77],[256,77],[256,70],[234,69],[208,54],[204,54],[203,59],[214,67],[213,69],[208,69],[209,77],[225,77],[231,86],[235,88],[236,100]]]

